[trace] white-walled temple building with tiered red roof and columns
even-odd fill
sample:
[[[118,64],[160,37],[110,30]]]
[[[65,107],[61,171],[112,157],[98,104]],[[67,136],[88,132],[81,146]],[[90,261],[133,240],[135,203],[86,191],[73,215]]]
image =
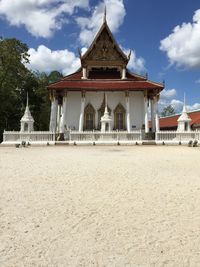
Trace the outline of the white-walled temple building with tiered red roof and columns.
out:
[[[128,70],[126,55],[103,24],[84,55],[81,68],[48,86],[51,99],[49,130],[159,130],[157,103],[164,85]],[[149,112],[150,110],[150,112]]]

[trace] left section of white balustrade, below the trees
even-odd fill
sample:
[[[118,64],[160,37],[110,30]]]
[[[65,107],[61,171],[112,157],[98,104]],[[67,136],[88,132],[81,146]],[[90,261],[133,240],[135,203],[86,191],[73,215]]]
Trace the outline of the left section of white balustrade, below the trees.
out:
[[[17,132],[4,131],[3,142],[48,142],[55,141],[55,133],[53,132]]]

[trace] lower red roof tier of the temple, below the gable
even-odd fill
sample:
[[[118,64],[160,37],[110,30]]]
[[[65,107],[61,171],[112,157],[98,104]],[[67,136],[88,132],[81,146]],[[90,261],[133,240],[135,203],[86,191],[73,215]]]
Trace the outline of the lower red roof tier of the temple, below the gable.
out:
[[[143,76],[132,74],[127,71],[127,79],[122,80],[118,77],[117,72],[95,71],[91,74],[92,78],[81,79],[82,71],[79,70],[71,75],[64,77],[62,80],[52,83],[48,89],[69,89],[78,91],[85,90],[143,90],[143,89],[158,89],[161,91],[164,88],[163,84],[154,83]]]

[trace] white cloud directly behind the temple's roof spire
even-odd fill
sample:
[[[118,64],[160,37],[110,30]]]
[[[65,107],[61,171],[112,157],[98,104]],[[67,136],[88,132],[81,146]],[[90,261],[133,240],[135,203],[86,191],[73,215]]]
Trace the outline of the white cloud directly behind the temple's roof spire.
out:
[[[76,19],[81,28],[80,41],[82,45],[90,45],[95,34],[103,22],[103,14],[106,6],[107,22],[113,33],[117,32],[126,15],[123,0],[104,0],[93,10],[91,17],[78,17]]]

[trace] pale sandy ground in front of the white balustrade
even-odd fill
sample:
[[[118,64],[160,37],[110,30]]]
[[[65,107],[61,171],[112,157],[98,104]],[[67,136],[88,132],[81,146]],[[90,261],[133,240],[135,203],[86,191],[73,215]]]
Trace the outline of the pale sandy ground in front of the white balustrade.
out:
[[[200,266],[200,148],[0,147],[0,266]]]

